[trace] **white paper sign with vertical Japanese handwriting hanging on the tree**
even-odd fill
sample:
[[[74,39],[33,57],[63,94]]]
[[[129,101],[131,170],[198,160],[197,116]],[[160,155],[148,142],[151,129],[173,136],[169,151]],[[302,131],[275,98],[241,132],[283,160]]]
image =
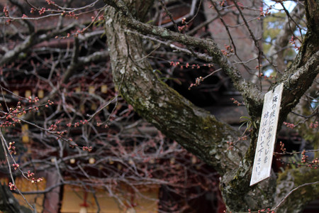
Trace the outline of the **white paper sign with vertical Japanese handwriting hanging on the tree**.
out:
[[[259,127],[256,153],[254,154],[250,185],[254,185],[270,176],[283,87],[284,84],[281,83],[274,89],[274,92],[269,91],[264,96],[262,120]]]

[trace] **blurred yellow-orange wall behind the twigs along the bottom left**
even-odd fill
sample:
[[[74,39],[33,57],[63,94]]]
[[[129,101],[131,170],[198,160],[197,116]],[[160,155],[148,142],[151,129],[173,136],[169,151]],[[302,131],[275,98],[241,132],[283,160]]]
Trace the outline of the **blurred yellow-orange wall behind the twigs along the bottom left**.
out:
[[[1,178],[1,182],[6,182],[8,184],[7,178]],[[31,191],[41,191],[45,190],[46,181],[38,182],[36,184],[32,184],[25,178],[16,178],[16,186],[19,190],[23,192],[31,192]],[[119,196],[119,199],[126,204],[125,199],[128,202],[131,201],[131,197],[128,192],[125,192],[125,189],[128,190],[129,187],[122,187],[121,192],[116,193]],[[136,206],[134,207],[136,213],[153,213],[157,212],[158,206],[158,186],[152,187],[141,187],[140,195],[133,199]],[[20,204],[28,207],[26,201],[21,197],[21,195],[13,194]],[[92,193],[86,193],[86,203],[88,207],[86,208],[87,213],[95,213],[97,208],[96,202],[94,200],[94,196]],[[126,213],[128,211],[128,207],[125,205],[121,205],[120,202],[114,197],[110,197],[106,190],[96,190],[96,198],[99,202],[99,206],[101,208],[101,213]],[[24,195],[26,200],[32,205],[35,205],[37,212],[43,211],[43,199],[44,195]],[[145,198],[147,197],[147,198]],[[79,213],[81,204],[84,203],[84,190],[81,187],[74,187],[70,185],[66,185],[64,187],[63,198],[62,198],[62,208],[61,213]]]

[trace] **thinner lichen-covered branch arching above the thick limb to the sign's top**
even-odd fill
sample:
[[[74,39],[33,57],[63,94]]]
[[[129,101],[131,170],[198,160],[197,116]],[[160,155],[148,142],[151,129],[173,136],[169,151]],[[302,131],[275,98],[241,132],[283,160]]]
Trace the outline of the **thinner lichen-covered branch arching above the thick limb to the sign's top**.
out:
[[[189,35],[169,31],[166,28],[159,28],[157,26],[142,23],[132,16],[123,1],[105,0],[105,2],[106,4],[113,6],[122,14],[122,23],[125,23],[130,28],[139,31],[142,34],[157,35],[160,38],[174,40],[187,46],[207,50],[208,54],[212,57],[212,61],[208,62],[214,62],[223,68],[224,72],[233,80],[235,88],[242,93],[250,115],[259,116],[260,111],[262,111],[262,94],[259,92],[259,89],[242,78],[240,72],[230,64],[213,40],[194,38]]]

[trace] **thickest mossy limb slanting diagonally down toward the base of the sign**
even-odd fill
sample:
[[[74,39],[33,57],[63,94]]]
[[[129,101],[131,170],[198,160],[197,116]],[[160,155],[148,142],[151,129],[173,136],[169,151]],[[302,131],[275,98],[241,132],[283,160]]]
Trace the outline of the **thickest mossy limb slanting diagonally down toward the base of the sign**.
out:
[[[138,35],[125,33],[126,18],[112,8],[106,14],[113,80],[121,84],[126,101],[157,129],[213,165],[220,174],[236,168],[245,145],[242,151],[228,151],[226,142],[235,141],[240,135],[161,82],[144,58]]]

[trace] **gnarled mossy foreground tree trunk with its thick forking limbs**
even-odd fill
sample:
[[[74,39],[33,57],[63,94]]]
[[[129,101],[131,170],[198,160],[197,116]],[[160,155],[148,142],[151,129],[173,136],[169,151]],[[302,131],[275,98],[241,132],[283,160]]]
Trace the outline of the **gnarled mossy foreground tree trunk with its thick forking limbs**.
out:
[[[286,171],[279,177],[272,173],[272,177],[268,180],[250,187],[257,131],[262,113],[261,92],[242,79],[212,40],[191,38],[143,23],[147,9],[152,5],[151,0],[105,0],[105,2],[111,6],[106,10],[106,35],[115,84],[135,111],[218,170],[222,177],[220,190],[228,210],[247,212],[247,209],[257,210],[267,207],[273,209],[290,190],[314,179],[309,177],[318,177],[318,170],[296,168]],[[305,7],[308,33],[293,65],[276,83],[284,82],[279,126],[319,72],[319,2],[305,1]],[[174,89],[161,82],[145,58],[141,39],[138,35],[130,33],[129,29],[207,50],[206,57],[199,54],[197,56],[208,62],[215,62],[223,68],[233,80],[236,89],[242,93],[252,121],[257,124],[257,128],[252,131],[250,141],[242,142],[240,149],[228,151],[226,141],[236,141],[240,133],[228,124],[217,121],[207,111],[195,107]],[[301,189],[306,189],[302,199],[296,200],[296,196],[300,193],[300,190],[296,190],[291,196],[286,197],[285,202],[276,210],[299,212],[306,202],[319,195],[318,185],[309,185],[308,188]]]

